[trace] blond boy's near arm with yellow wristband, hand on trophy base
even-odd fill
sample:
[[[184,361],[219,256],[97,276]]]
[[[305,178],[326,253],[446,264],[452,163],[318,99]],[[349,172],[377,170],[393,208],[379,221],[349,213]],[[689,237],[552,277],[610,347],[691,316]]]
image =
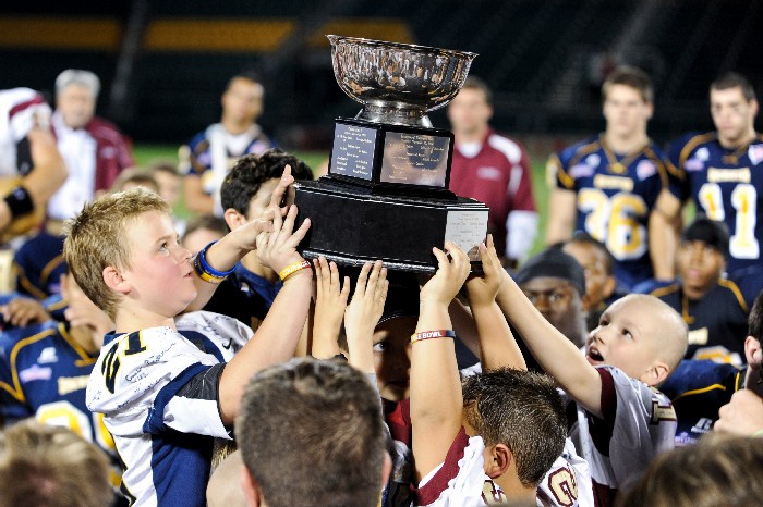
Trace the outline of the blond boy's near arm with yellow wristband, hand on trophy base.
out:
[[[306,228],[293,232],[296,207],[290,207],[282,220],[274,218],[274,231],[257,237],[261,262],[277,273],[283,268],[303,261],[295,248]],[[249,380],[265,367],[282,362],[294,354],[300,338],[312,292],[313,271],[301,269],[289,275],[276,296],[270,310],[252,339],[233,356],[222,370],[219,386],[219,405],[222,422],[232,423],[239,413],[241,395]]]

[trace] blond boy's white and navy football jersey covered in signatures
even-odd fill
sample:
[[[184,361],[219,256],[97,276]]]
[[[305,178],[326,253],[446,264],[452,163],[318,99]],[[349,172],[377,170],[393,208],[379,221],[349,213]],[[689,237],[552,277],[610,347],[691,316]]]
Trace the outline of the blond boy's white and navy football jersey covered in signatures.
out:
[[[182,316],[178,329],[107,335],[87,385],[87,407],[105,415],[134,506],[203,507],[213,437],[231,438],[219,376],[252,332],[210,312]]]

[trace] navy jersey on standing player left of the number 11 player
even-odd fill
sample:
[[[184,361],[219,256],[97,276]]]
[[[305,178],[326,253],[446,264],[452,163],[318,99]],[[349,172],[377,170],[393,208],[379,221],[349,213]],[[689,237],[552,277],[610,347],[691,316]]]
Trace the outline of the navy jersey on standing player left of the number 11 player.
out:
[[[577,228],[606,245],[617,260],[615,277],[627,287],[652,277],[647,225],[657,196],[664,188],[680,195],[662,157],[652,141],[638,152],[616,153],[602,135],[548,161],[556,187],[577,194]]]

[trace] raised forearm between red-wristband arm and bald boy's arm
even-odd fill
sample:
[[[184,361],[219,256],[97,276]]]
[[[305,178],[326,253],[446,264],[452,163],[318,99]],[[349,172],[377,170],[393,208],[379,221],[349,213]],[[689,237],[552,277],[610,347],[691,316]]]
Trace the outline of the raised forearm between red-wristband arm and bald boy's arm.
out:
[[[476,322],[482,368],[493,370],[511,367],[526,370],[522,351],[511,334],[509,323],[496,304],[504,268],[493,245],[492,235],[487,236],[487,245],[480,245],[480,256],[484,275],[468,281],[467,293]]]

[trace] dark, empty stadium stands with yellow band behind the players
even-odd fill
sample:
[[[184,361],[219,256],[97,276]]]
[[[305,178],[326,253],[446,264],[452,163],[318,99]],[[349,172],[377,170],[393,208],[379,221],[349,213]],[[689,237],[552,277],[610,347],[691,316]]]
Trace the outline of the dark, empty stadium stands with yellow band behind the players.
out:
[[[0,87],[51,91],[61,70],[90,69],[104,82],[99,112],[114,113],[109,90],[137,3],[5,2],[0,7]],[[758,0],[145,4],[140,44],[123,76],[131,100],[112,114],[138,140],[175,143],[213,122],[226,81],[242,70],[263,74],[268,87],[263,123],[277,134],[284,125],[330,127],[334,116],[354,114],[359,106],[334,83],[323,37],[330,32],[479,53],[472,72],[494,88],[495,123],[509,131],[597,128],[598,104],[581,98],[590,91],[590,58],[621,41],[646,7],[654,9],[650,25],[628,40],[625,57],[654,76],[658,134],[669,136],[707,120],[707,85],[720,71],[747,74],[759,90],[763,84],[758,57],[763,2]],[[441,113],[435,118],[444,121]]]

